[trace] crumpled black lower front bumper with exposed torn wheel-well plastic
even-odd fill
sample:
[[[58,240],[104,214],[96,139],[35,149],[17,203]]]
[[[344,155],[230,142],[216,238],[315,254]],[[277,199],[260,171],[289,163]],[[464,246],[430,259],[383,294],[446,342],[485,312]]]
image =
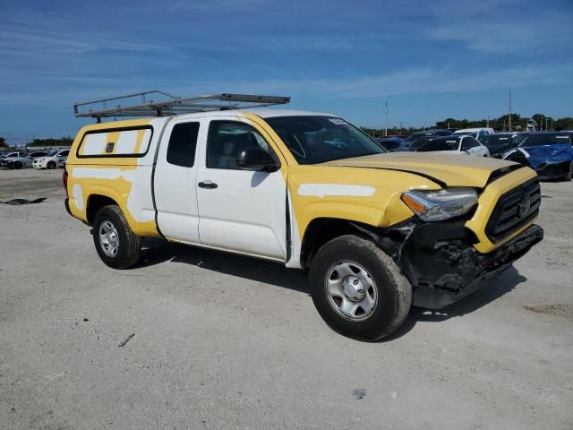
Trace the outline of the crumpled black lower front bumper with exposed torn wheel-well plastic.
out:
[[[412,284],[413,305],[439,310],[482,288],[542,239],[543,228],[534,224],[481,254],[463,223],[428,223],[413,229],[396,259]]]

